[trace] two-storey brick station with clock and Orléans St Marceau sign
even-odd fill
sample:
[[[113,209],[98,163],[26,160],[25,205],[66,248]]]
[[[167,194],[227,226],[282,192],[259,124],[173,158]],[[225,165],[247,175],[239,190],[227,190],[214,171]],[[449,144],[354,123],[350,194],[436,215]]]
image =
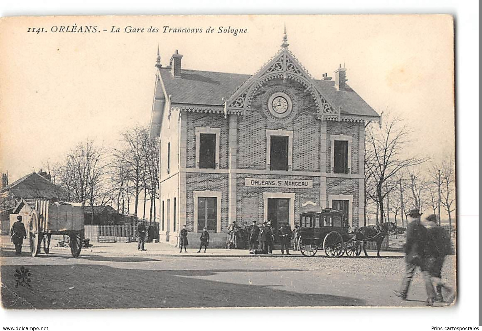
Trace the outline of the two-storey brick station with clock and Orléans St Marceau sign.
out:
[[[186,225],[195,247],[207,226],[210,246],[224,247],[233,221],[293,228],[300,212],[325,207],[351,226],[364,219],[364,130],[380,116],[345,67],[315,79],[288,46],[285,33],[253,75],[185,69],[177,50],[162,66],[158,52],[161,240],[175,243]]]

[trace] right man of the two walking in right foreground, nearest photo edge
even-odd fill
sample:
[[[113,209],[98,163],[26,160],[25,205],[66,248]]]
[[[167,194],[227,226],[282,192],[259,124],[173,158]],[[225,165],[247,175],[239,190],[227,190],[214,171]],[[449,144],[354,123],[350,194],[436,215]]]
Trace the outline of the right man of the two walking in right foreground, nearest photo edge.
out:
[[[437,224],[437,215],[428,215],[426,218],[427,244],[425,245],[426,269],[430,279],[436,285],[436,293],[427,301],[443,302],[442,288],[449,294],[449,302],[453,300],[453,289],[442,280],[442,265],[445,255],[452,253],[452,243],[448,232]]]

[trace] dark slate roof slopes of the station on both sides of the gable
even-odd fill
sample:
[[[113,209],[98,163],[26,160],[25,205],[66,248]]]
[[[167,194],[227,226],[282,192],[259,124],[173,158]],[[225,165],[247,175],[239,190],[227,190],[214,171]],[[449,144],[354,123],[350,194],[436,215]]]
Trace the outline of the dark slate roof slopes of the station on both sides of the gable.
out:
[[[176,104],[223,106],[223,97],[229,97],[251,75],[225,72],[181,69],[181,77],[172,77],[170,68],[160,68],[166,93]],[[348,84],[344,90],[335,89],[334,80],[315,80],[321,94],[342,114],[379,117]]]

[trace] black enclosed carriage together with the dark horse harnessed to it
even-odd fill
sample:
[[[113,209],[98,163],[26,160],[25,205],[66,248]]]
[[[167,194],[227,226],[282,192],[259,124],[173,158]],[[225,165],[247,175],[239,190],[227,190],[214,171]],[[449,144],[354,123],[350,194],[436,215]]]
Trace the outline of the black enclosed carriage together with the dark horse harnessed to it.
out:
[[[380,256],[381,243],[390,230],[390,223],[350,230],[345,213],[330,208],[303,212],[298,247],[304,256],[314,256],[320,249],[328,257],[359,256],[362,250],[368,256],[365,243],[375,241]]]

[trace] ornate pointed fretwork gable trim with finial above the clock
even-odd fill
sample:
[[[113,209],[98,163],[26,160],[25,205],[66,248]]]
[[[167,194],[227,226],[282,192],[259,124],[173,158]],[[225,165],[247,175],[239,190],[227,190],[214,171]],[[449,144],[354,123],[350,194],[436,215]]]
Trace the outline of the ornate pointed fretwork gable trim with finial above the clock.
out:
[[[247,79],[231,96],[225,101],[225,116],[228,114],[243,115],[246,110],[251,109],[251,101],[254,93],[271,79],[294,80],[302,84],[310,93],[317,107],[319,119],[340,119],[340,109],[333,107],[324,97],[315,83],[314,78],[308,73],[305,67],[296,59],[295,55],[288,49],[286,34],[281,44],[281,49],[261,67],[253,76]]]

